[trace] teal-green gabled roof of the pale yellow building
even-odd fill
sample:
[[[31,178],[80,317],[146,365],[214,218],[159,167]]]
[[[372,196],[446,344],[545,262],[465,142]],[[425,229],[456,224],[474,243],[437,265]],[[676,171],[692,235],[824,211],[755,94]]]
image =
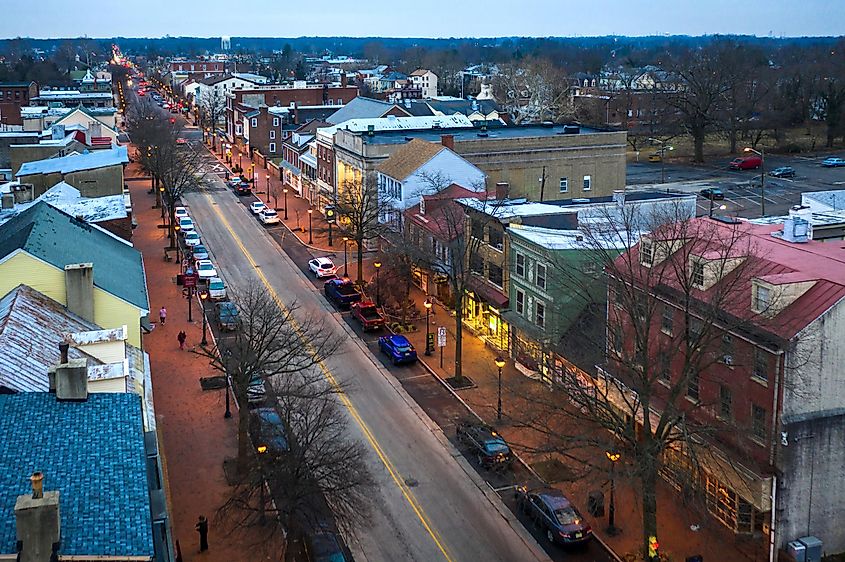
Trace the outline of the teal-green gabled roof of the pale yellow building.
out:
[[[113,234],[39,201],[0,227],[0,261],[23,250],[64,270],[94,264],[94,286],[149,311],[141,253]]]

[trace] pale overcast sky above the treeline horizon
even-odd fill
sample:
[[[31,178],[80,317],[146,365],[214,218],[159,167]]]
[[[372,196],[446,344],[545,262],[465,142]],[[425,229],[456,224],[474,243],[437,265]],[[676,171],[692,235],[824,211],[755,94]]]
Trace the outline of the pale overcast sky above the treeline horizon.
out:
[[[0,0],[0,37],[842,35],[843,0]]]

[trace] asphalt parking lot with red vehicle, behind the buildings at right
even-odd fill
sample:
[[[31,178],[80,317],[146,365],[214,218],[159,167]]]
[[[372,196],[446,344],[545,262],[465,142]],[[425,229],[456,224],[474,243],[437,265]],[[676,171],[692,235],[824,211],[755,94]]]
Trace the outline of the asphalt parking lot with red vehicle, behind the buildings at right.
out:
[[[838,154],[833,154],[838,155]],[[784,215],[793,205],[801,203],[805,191],[845,189],[845,168],[824,168],[821,161],[830,154],[816,156],[766,156],[765,211],[766,215]],[[661,183],[661,163],[631,162],[627,167],[628,189],[670,189],[685,193],[698,193],[704,188],[721,189],[724,201],[716,201],[718,213],[756,218],[761,215],[760,170],[729,170],[730,158],[706,164],[692,165],[667,161],[665,182]],[[780,166],[795,168],[794,178],[773,178],[768,171]],[[698,214],[709,212],[710,202],[699,197]]]

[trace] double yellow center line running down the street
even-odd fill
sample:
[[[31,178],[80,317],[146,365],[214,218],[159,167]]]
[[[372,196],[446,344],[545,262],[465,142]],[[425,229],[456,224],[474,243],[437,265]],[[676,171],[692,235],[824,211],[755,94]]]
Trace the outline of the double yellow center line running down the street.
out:
[[[226,220],[226,217],[223,216],[223,213],[220,211],[220,206],[214,204],[214,200],[208,193],[205,194],[205,197],[209,200],[210,203],[212,203],[211,208],[214,210],[215,214],[220,219],[220,222],[223,224],[226,230],[229,231],[229,234],[232,236],[232,240],[234,240],[235,244],[237,244],[238,248],[240,248],[241,253],[243,253],[244,257],[247,259],[255,273],[258,275],[258,278],[261,280],[261,283],[267,288],[267,291],[270,293],[270,296],[273,297],[273,300],[276,302],[279,308],[286,311],[287,307],[285,306],[284,302],[282,302],[282,299],[279,297],[276,290],[272,287],[272,285],[270,285],[270,282],[267,280],[267,277],[264,275],[264,272],[258,267],[258,263],[253,259],[252,254],[249,253],[249,250],[246,249],[246,247],[241,242],[240,238],[235,234],[235,231],[232,229],[231,225],[229,224],[229,221]],[[302,341],[303,345],[307,346],[309,349],[312,350],[312,353],[316,354],[316,351],[313,350],[311,344],[301,337],[302,332],[296,319],[291,317],[291,321],[293,322],[294,328],[299,333],[300,341]],[[411,506],[411,509],[413,509],[414,513],[417,516],[417,519],[420,520],[420,523],[422,523],[423,527],[425,527],[426,532],[434,541],[434,544],[437,545],[438,550],[440,550],[440,552],[443,554],[443,557],[448,562],[453,562],[453,558],[449,556],[449,553],[446,551],[446,547],[443,545],[443,541],[440,538],[439,533],[434,529],[434,527],[430,523],[428,516],[422,509],[422,506],[420,506],[416,497],[414,497],[414,494],[411,492],[410,488],[408,488],[408,485],[405,484],[405,482],[399,477],[396,467],[393,466],[393,463],[387,457],[387,454],[381,448],[381,445],[379,445],[378,440],[375,438],[372,431],[370,431],[370,428],[367,423],[363,420],[363,418],[361,418],[360,414],[358,413],[358,409],[355,408],[354,404],[352,404],[352,401],[349,399],[349,396],[347,396],[341,388],[340,383],[338,383],[337,381],[337,378],[335,378],[334,374],[322,360],[318,361],[317,364],[320,367],[320,370],[323,372],[323,376],[326,378],[329,384],[332,385],[332,388],[334,388],[335,392],[339,396],[340,401],[349,411],[349,414],[352,416],[352,419],[354,419],[355,423],[358,424],[358,427],[361,428],[361,431],[364,433],[364,437],[367,438],[367,442],[370,444],[370,447],[372,447],[373,451],[375,451],[379,460],[387,469],[387,472],[390,474],[390,477],[396,483],[396,486],[399,487],[399,490],[402,492],[402,495],[405,497],[405,500],[408,502],[408,505]]]

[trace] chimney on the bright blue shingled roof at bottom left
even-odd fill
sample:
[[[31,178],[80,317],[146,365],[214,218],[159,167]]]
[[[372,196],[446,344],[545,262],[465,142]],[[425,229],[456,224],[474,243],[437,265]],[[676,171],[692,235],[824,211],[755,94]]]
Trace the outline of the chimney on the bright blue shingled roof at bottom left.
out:
[[[18,496],[15,501],[15,531],[20,562],[52,560],[61,539],[59,492],[44,491],[44,475],[30,476],[32,494]]]

